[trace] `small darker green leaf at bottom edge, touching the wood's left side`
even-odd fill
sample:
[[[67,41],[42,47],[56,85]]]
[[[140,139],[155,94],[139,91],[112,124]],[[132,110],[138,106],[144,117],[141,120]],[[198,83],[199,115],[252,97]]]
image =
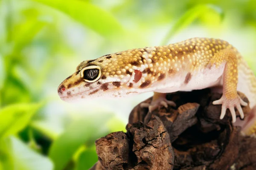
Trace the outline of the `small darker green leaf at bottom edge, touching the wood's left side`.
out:
[[[88,170],[98,161],[95,147],[82,152],[76,163],[76,170]]]

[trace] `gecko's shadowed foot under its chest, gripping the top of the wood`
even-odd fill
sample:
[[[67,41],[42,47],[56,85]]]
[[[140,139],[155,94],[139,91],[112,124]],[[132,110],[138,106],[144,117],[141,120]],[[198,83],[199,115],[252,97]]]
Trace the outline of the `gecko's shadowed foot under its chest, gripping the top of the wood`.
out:
[[[152,112],[152,111],[156,110],[157,108],[161,108],[162,106],[165,108],[168,108],[168,105],[176,107],[175,102],[167,100],[166,98],[160,97],[156,100],[152,100],[151,103],[141,103],[140,107],[148,108],[148,111]]]

